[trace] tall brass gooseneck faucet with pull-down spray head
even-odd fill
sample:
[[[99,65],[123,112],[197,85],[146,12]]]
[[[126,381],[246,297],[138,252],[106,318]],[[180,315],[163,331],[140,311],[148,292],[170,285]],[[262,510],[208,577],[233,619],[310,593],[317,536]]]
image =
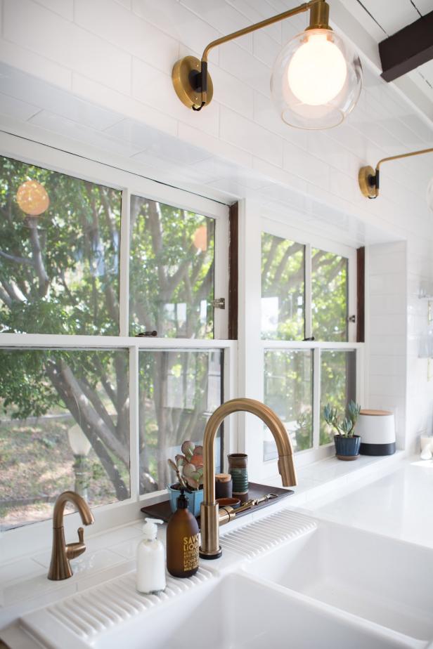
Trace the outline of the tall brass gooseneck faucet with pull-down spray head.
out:
[[[223,419],[233,412],[251,412],[264,421],[273,434],[278,450],[278,472],[284,487],[296,485],[296,472],[293,464],[293,450],[289,435],[275,412],[254,399],[232,399],[223,403],[209,417],[203,438],[203,502],[200,509],[202,559],[217,559],[222,550],[219,545],[219,511],[215,501],[215,450],[216,433]]]

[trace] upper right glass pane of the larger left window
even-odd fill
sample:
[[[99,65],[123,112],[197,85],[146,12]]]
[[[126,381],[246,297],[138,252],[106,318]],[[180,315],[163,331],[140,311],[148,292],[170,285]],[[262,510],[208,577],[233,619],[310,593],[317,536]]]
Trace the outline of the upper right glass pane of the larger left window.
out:
[[[213,338],[213,218],[131,197],[129,332]]]

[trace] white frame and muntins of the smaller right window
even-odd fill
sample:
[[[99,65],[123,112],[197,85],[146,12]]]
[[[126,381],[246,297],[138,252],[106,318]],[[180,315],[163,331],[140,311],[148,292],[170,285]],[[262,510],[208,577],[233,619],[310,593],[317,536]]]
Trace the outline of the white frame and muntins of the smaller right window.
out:
[[[290,223],[274,221],[262,215],[261,207],[247,200],[240,202],[240,339],[239,367],[240,388],[245,394],[259,401],[264,400],[264,352],[265,350],[313,350],[313,447],[295,454],[297,468],[311,464],[335,453],[334,444],[319,445],[320,435],[320,367],[321,350],[356,351],[356,400],[363,402],[364,393],[364,344],[356,342],[356,323],[348,323],[348,341],[272,341],[261,339],[261,233],[304,244],[306,257],[306,327],[305,337],[311,337],[311,248],[319,248],[346,257],[348,262],[348,315],[356,313],[356,249],[314,235]],[[314,335],[314,332],[313,332]],[[263,459],[263,425],[249,415],[240,419],[240,450],[248,454],[250,474],[254,481],[264,482],[278,476],[276,460]]]

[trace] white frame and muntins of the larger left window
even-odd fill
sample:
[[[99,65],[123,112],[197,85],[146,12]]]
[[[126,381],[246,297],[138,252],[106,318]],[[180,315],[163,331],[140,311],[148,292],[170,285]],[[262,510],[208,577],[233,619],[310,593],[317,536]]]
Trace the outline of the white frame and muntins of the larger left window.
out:
[[[167,491],[161,490],[152,494],[139,494],[138,466],[138,353],[140,350],[223,350],[223,400],[233,398],[236,394],[237,377],[237,341],[227,340],[227,309],[214,310],[214,339],[143,339],[129,336],[129,206],[131,195],[146,197],[157,202],[188,209],[215,221],[215,275],[214,297],[224,298],[228,304],[228,206],[206,197],[195,195],[185,190],[164,185],[148,178],[138,176],[114,166],[58,150],[49,145],[33,142],[9,133],[0,133],[0,155],[11,157],[20,162],[59,173],[66,173],[74,178],[98,183],[122,190],[121,241],[119,258],[119,336],[64,336],[51,334],[0,334],[0,348],[77,348],[77,349],[119,349],[129,351],[129,373],[137,380],[129,380],[130,407],[130,484],[129,499],[105,504],[93,508],[96,510],[96,525],[91,532],[100,532],[114,525],[136,520],[143,501],[149,503],[162,501]],[[109,156],[108,156],[109,159]],[[236,449],[237,434],[231,422],[224,426],[224,449],[233,452]],[[77,527],[79,517],[71,514],[65,518],[66,527]],[[4,556],[18,556],[26,551],[29,534],[35,546],[46,544],[47,534],[52,521],[44,520],[32,525],[24,525],[7,530],[1,535],[1,546]]]

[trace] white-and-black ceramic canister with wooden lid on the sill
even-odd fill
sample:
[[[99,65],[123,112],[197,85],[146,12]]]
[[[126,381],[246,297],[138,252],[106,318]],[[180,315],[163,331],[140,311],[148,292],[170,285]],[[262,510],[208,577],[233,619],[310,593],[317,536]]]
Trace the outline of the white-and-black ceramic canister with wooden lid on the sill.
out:
[[[389,410],[361,410],[355,427],[361,435],[362,455],[392,455],[396,452],[394,414]]]

